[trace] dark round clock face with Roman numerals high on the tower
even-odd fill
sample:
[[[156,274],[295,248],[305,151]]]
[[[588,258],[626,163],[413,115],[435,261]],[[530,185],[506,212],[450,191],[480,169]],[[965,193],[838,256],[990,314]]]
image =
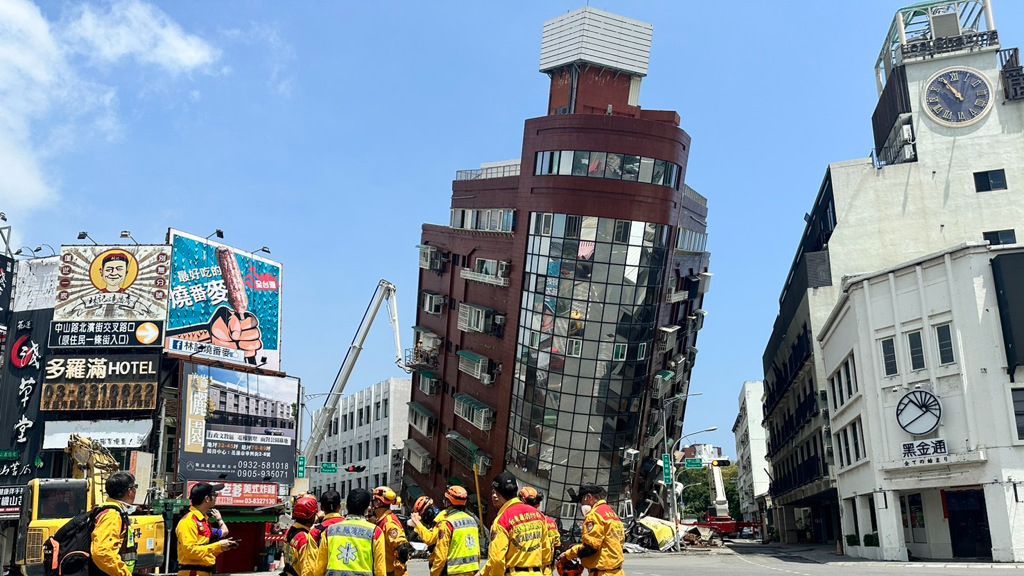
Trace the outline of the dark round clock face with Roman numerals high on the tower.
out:
[[[925,89],[925,110],[939,124],[969,126],[992,108],[992,89],[985,76],[970,68],[940,71]]]

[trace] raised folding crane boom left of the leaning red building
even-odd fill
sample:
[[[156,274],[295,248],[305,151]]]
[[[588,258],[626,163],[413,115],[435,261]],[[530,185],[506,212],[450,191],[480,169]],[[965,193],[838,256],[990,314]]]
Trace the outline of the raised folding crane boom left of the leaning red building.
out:
[[[312,430],[309,434],[309,442],[306,443],[304,452],[306,458],[312,460],[316,451],[319,450],[319,445],[324,441],[324,437],[327,436],[327,430],[331,426],[331,420],[338,410],[338,403],[341,402],[341,396],[345,392],[345,385],[348,384],[348,377],[352,375],[355,363],[359,360],[362,345],[366,343],[367,336],[370,334],[370,328],[374,325],[374,320],[381,310],[381,304],[387,305],[388,317],[391,320],[391,331],[394,333],[394,363],[402,371],[410,372],[401,356],[401,336],[398,329],[398,299],[395,295],[396,292],[397,288],[387,280],[381,280],[377,283],[377,290],[374,291],[374,296],[370,299],[370,305],[367,306],[367,311],[362,313],[362,321],[359,322],[359,327],[355,331],[352,343],[348,346],[345,360],[341,363],[338,375],[334,379],[334,385],[331,386],[331,392],[324,403],[324,409],[321,411],[319,417],[313,421]]]

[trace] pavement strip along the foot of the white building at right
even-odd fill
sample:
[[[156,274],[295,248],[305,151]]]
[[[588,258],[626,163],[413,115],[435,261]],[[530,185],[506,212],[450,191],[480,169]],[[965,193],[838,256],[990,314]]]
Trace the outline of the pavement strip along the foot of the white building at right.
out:
[[[1009,562],[959,562],[952,560],[914,560],[911,562],[883,562],[859,558],[840,556],[836,553],[835,544],[759,544],[750,541],[728,542],[726,546],[734,553],[759,553],[772,556],[781,560],[801,559],[802,562],[813,562],[828,566],[863,566],[901,568],[952,568],[952,569],[984,569],[1024,570],[1024,563]]]

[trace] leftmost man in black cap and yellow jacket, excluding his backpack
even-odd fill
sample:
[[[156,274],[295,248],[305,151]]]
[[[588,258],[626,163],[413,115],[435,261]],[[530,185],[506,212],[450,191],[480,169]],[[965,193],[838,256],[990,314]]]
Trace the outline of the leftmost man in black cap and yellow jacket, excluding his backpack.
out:
[[[90,574],[98,571],[106,576],[131,576],[135,570],[135,560],[138,558],[138,545],[135,543],[135,529],[124,526],[122,515],[135,511],[135,477],[126,471],[117,471],[106,479],[106,503],[96,517],[92,529],[92,540],[89,553],[92,563]]]

